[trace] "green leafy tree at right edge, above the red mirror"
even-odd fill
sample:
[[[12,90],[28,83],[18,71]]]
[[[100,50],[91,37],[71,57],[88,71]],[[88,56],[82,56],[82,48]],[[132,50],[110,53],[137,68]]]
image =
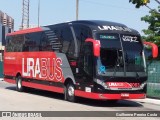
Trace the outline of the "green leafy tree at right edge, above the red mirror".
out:
[[[145,36],[143,38],[146,41],[152,41],[160,47],[160,6],[157,10],[150,10],[150,15],[146,15],[141,18],[149,24],[148,29],[144,29]]]

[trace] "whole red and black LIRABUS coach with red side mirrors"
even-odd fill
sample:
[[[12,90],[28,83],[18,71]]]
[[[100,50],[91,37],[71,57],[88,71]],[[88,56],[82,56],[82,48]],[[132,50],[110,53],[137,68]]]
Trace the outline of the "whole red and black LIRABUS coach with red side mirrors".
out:
[[[119,23],[72,21],[9,33],[4,80],[18,91],[36,88],[99,99],[142,99],[147,90],[144,43]],[[153,43],[152,57],[158,49]]]

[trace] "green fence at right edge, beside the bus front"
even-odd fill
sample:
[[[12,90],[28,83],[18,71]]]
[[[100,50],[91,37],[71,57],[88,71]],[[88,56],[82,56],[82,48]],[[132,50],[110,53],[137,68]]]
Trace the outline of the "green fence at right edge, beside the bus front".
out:
[[[147,96],[160,98],[160,60],[148,63]]]

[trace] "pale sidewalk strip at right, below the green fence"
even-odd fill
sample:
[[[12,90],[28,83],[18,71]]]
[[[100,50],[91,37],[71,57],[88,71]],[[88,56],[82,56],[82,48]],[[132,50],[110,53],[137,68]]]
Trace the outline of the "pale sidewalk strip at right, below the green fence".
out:
[[[134,99],[132,101],[136,101],[136,102],[140,102],[140,103],[150,103],[150,104],[160,105],[160,100],[152,99],[152,98]]]

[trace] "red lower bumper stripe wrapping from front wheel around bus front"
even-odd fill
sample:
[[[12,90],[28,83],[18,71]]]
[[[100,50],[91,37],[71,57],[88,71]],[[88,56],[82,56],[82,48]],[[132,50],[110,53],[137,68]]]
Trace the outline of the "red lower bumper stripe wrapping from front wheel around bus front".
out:
[[[75,90],[75,96],[90,98],[90,99],[101,99],[101,100],[113,100],[113,99],[143,99],[146,97],[144,93],[142,94],[129,94],[128,97],[122,96],[122,94],[101,94],[101,93],[91,93],[80,90]]]

